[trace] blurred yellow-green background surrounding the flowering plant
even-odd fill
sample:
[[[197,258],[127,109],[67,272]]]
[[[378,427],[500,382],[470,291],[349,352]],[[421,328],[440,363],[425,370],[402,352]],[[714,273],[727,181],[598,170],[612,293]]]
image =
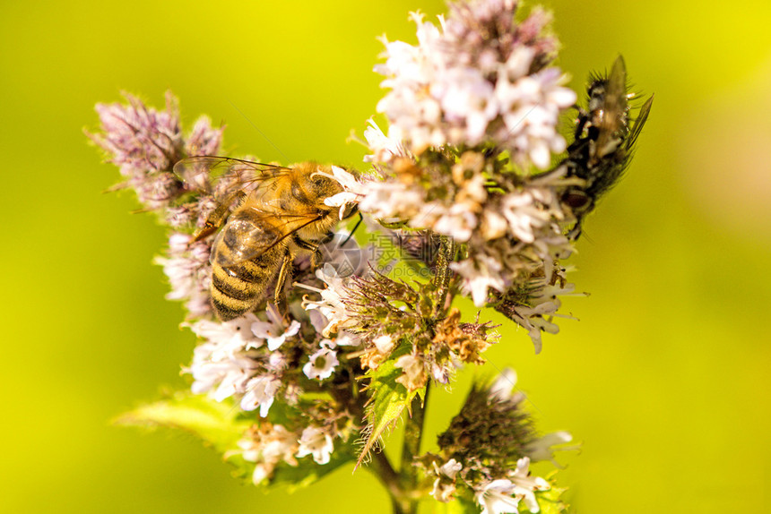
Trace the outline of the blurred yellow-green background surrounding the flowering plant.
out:
[[[559,456],[576,512],[767,511],[771,4],[547,6],[574,87],[620,52],[656,99],[628,176],[585,227],[573,279],[592,296],[566,305],[581,321],[539,356],[507,327],[489,369],[514,366],[541,430],[583,441]],[[413,42],[416,9],[444,4],[0,4],[0,510],[389,512],[351,467],[264,495],[197,441],[108,424],[181,383],[194,337],[151,264],[163,230],[129,214],[132,195],[101,193],[117,169],[82,128],[121,90],[160,107],[170,88],[187,126],[201,113],[228,125],[232,154],[360,166],[345,140],[383,94],[376,38]],[[432,398],[430,432],[471,375]]]

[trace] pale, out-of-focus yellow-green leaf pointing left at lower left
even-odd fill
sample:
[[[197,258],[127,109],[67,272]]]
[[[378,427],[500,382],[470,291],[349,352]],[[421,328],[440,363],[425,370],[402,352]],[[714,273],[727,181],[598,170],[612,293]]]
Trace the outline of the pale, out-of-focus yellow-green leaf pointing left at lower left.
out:
[[[178,391],[119,415],[115,424],[147,429],[171,428],[192,433],[204,444],[225,453],[237,448],[251,420],[239,419],[239,409],[229,402],[217,402],[206,395]]]

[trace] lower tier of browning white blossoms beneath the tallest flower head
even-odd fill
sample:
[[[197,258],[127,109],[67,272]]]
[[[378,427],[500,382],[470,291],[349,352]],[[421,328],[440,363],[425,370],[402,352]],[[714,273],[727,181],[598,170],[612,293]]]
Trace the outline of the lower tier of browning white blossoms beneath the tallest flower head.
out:
[[[374,129],[368,136],[378,141]],[[505,301],[516,291],[516,313],[509,317],[528,330],[540,350],[541,331],[559,330],[550,321],[560,306],[558,296],[574,289],[555,264],[573,252],[564,232],[574,218],[559,197],[564,179],[549,173],[514,183],[472,151],[449,168],[445,176],[431,176],[429,184],[403,180],[398,170],[391,175],[383,171],[385,180],[359,184],[360,210],[385,223],[429,228],[465,244],[467,258],[451,264],[463,278],[465,293],[481,307]],[[487,187],[490,181],[497,182],[494,190]],[[438,198],[436,190],[452,193]],[[513,307],[507,304],[507,310]],[[340,315],[341,320],[347,316]]]

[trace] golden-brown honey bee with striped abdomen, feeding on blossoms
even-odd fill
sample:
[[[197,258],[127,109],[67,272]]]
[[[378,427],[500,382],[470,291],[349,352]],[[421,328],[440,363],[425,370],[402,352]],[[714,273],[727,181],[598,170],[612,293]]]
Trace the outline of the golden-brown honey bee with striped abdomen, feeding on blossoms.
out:
[[[331,167],[314,162],[282,167],[236,158],[193,157],[179,161],[174,172],[188,180],[223,172],[218,180],[227,179],[228,189],[235,190],[193,238],[200,241],[221,228],[212,244],[210,291],[214,313],[222,321],[254,310],[273,284],[275,302],[281,304],[295,258],[309,253],[311,266],[316,267],[318,245],[337,223],[357,212],[352,203],[342,210],[325,204],[327,198],[342,193],[342,185],[334,180]],[[233,203],[238,205],[230,211]]]

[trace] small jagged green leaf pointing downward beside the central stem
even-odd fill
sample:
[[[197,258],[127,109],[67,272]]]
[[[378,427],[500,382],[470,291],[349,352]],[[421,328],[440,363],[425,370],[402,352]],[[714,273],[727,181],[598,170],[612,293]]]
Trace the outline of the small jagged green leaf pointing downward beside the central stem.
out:
[[[380,364],[377,370],[368,370],[369,403],[367,407],[367,427],[363,433],[368,434],[364,448],[361,449],[356,467],[367,457],[375,442],[385,432],[386,428],[393,426],[402,415],[405,408],[409,407],[412,398],[418,393],[408,391],[401,383],[397,382],[402,376],[402,370],[395,366],[396,359],[409,353],[411,345],[402,345],[394,351],[391,358]]]

